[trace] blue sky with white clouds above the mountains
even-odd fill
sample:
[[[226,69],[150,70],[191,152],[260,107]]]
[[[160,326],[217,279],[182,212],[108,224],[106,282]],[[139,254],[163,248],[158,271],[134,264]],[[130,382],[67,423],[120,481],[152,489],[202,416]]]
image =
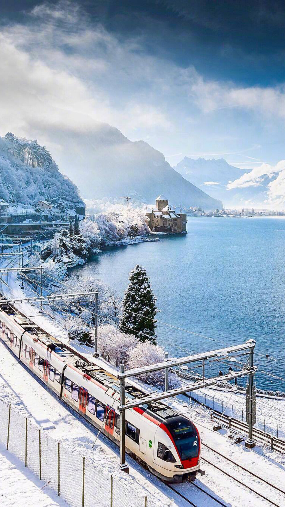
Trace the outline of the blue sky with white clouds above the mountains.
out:
[[[37,137],[57,156],[52,130],[82,134],[105,121],[171,165],[285,158],[284,2],[0,6],[2,135]]]

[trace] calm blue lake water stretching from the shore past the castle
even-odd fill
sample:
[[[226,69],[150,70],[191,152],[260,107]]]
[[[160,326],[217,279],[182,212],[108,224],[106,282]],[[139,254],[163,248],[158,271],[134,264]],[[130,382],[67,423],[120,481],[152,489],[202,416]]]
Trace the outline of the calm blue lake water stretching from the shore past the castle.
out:
[[[157,296],[158,320],[173,326],[157,326],[158,343],[170,355],[253,338],[258,387],[285,391],[284,381],[260,372],[285,378],[284,218],[190,218],[187,231],[109,248],[75,272],[92,274],[123,296],[130,270],[144,266]],[[218,367],[226,371],[228,365]]]

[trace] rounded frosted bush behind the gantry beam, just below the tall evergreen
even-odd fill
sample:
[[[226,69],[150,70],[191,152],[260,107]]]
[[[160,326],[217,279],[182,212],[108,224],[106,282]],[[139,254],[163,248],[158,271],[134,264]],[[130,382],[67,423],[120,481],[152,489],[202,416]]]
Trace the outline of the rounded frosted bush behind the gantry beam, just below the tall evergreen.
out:
[[[165,351],[163,347],[153,345],[150,342],[138,343],[128,352],[127,366],[128,368],[142,368],[156,363],[163,363],[165,360]],[[164,386],[164,370],[157,372],[144,373],[139,375],[139,380],[163,388]],[[174,374],[168,374],[169,387],[175,387],[177,378]]]

